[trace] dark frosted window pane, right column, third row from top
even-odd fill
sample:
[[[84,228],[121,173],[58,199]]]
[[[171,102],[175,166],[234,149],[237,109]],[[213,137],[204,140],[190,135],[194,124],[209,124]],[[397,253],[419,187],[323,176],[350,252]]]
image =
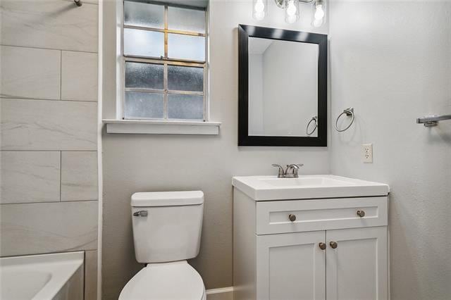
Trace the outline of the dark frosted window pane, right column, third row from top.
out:
[[[204,68],[168,65],[168,89],[203,92]]]

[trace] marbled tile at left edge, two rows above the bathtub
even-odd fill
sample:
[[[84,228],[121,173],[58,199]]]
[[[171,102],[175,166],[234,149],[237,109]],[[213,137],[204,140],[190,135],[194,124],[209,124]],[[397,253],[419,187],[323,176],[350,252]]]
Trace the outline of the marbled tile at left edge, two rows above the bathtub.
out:
[[[60,152],[1,151],[0,203],[60,201]]]

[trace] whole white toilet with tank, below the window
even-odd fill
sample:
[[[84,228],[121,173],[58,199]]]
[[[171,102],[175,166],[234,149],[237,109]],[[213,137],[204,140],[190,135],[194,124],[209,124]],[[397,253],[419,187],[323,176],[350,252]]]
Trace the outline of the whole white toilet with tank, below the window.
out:
[[[136,260],[147,266],[119,299],[206,299],[202,277],[186,261],[199,254],[204,193],[135,193],[131,206]]]

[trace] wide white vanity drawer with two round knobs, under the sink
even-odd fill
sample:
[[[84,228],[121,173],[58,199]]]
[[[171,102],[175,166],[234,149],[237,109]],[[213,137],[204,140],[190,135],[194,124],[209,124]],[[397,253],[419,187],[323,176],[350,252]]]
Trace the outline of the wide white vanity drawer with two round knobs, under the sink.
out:
[[[257,235],[385,225],[387,196],[257,202]]]

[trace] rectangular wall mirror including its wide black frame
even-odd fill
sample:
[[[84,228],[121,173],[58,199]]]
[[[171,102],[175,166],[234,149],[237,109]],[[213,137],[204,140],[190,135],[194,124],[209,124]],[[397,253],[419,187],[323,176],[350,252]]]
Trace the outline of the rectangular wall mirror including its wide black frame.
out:
[[[327,36],[240,25],[240,146],[327,145]]]

